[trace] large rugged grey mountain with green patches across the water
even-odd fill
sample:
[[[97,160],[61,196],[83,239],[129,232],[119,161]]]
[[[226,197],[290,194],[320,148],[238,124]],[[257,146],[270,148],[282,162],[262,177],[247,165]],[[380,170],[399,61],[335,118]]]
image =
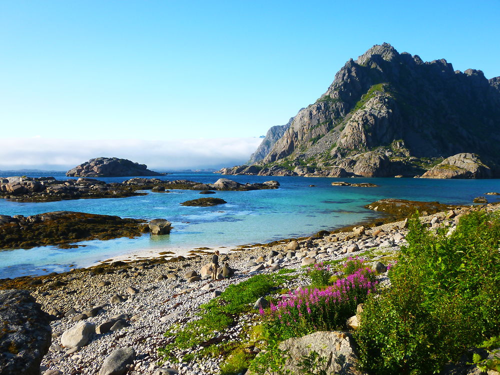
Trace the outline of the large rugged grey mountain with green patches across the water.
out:
[[[498,130],[500,77],[488,80],[474,69],[454,71],[444,59],[424,62],[383,43],[349,59],[326,92],[297,113],[250,171],[414,176],[449,156],[474,154],[496,176]]]

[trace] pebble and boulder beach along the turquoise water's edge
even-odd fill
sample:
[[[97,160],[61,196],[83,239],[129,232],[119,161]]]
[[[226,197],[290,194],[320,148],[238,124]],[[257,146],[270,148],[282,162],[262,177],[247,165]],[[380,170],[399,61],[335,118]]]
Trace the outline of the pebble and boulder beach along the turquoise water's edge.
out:
[[[499,207],[495,204],[446,207],[446,211],[422,216],[421,220],[431,228],[446,226],[452,230],[458,218],[468,211]],[[377,261],[387,264],[405,243],[405,226],[406,221],[399,220],[229,250],[221,255],[221,260],[227,260],[230,267],[236,269],[235,275],[216,281],[206,274],[210,255],[162,256],[130,263],[101,264],[61,274],[2,280],[0,288],[29,289],[43,310],[51,314],[52,344],[41,361],[46,374],[95,374],[111,352],[129,347],[134,351],[133,360],[127,365],[130,374],[219,373],[221,357],[183,359],[191,358],[191,354],[202,347],[170,353],[170,357],[179,361],[163,362],[157,349],[170,342],[163,333],[173,325],[184,326],[194,319],[199,306],[227,286],[256,274],[291,269],[288,274],[292,277],[284,286],[293,289],[310,282],[302,265],[355,255],[373,264]],[[385,274],[380,274],[380,282],[386,279]],[[245,321],[238,320],[234,326],[219,332],[219,336],[229,340],[236,338],[243,325],[251,323],[253,317],[250,313]],[[68,333],[64,332],[78,324],[93,328],[83,334],[88,342],[69,347],[64,340],[64,334]],[[166,368],[170,368],[170,372],[166,372]]]

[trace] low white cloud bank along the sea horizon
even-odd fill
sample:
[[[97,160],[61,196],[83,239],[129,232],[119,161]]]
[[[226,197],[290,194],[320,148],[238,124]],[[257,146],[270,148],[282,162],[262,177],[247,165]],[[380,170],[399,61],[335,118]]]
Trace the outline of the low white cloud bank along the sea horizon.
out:
[[[121,157],[150,169],[219,168],[244,163],[259,138],[172,140],[75,140],[7,138],[0,145],[0,169],[70,169],[93,157]]]

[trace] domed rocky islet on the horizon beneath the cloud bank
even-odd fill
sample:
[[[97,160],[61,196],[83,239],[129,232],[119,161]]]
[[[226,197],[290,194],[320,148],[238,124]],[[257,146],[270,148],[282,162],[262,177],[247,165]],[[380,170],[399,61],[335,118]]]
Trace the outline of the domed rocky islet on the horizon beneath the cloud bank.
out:
[[[147,169],[145,164],[117,157],[96,157],[66,172],[67,176],[72,177],[159,176],[161,174]]]

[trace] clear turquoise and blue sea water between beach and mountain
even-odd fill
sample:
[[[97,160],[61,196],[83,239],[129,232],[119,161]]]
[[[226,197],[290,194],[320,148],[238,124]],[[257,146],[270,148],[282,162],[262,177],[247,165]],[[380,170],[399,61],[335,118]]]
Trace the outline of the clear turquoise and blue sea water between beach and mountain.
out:
[[[1,176],[26,174],[0,172]],[[43,173],[27,174],[40,176]],[[47,174],[45,174],[47,175]],[[49,173],[66,179],[61,173]],[[165,180],[190,179],[214,182],[221,176],[214,173],[176,173],[161,176]],[[198,198],[198,191],[173,190],[128,198],[78,199],[45,203],[18,203],[0,200],[0,214],[31,215],[69,210],[118,215],[143,219],[166,218],[173,223],[169,235],[118,238],[107,241],[79,242],[85,247],[57,249],[54,246],[0,251],[0,278],[47,271],[67,270],[70,265],[87,266],[111,256],[139,250],[172,250],[200,246],[234,246],[295,237],[352,224],[376,215],[363,205],[384,197],[438,200],[442,203],[471,203],[488,191],[500,191],[500,180],[439,180],[417,178],[349,178],[348,181],[373,182],[379,187],[331,186],[342,178],[222,176],[238,182],[278,180],[279,189],[255,191],[217,191],[211,196],[228,203],[214,207],[179,205]],[[126,178],[100,178],[121,182]],[[316,185],[309,187],[309,184]],[[488,196],[489,201],[498,199]],[[45,270],[42,270],[45,269]]]

